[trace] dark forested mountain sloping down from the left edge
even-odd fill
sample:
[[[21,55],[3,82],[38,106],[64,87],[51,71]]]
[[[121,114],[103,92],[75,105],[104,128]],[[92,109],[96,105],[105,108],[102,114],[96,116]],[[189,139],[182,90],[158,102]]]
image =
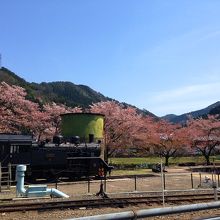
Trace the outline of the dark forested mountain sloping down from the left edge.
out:
[[[25,88],[28,93],[28,98],[35,102],[56,102],[71,107],[79,106],[86,108],[92,103],[113,100],[86,85],[76,85],[72,82],[30,83],[5,67],[0,69],[0,82],[2,81],[5,81],[9,85],[18,85]],[[117,100],[114,101],[118,102]],[[127,103],[122,104],[136,108]],[[136,109],[139,113],[154,116],[145,109]]]

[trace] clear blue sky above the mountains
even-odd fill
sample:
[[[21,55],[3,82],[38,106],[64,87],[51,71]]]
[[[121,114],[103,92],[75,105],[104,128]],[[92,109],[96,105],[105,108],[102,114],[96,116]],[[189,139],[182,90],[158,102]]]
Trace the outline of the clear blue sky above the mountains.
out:
[[[2,66],[158,116],[220,100],[219,0],[0,0]]]

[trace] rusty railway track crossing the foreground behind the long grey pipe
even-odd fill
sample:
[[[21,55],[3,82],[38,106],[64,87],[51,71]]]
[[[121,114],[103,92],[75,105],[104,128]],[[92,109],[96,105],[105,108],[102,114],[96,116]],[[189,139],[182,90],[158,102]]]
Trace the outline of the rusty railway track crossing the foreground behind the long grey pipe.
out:
[[[198,202],[214,200],[213,194],[175,194],[166,195],[166,203],[178,204],[179,202]],[[161,195],[139,196],[139,197],[120,197],[120,198],[98,198],[86,200],[57,200],[57,201],[38,201],[38,202],[24,202],[11,201],[0,204],[0,213],[2,212],[18,212],[18,211],[46,211],[54,209],[79,209],[79,208],[100,208],[100,207],[125,207],[129,205],[150,203],[162,203]]]

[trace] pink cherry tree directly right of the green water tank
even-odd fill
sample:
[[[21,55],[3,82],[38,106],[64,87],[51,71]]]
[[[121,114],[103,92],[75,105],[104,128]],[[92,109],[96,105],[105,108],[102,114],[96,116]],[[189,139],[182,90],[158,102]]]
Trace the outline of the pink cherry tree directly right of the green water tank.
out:
[[[117,150],[133,146],[141,115],[131,107],[125,107],[114,101],[95,103],[90,106],[93,113],[105,115],[106,159]]]

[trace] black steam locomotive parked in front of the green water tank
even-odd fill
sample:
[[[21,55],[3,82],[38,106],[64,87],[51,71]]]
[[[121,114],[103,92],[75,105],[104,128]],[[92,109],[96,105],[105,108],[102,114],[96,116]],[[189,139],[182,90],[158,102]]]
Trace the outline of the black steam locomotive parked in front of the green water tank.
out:
[[[112,167],[101,158],[101,152],[102,141],[93,134],[89,134],[88,140],[55,136],[51,143],[38,143],[30,135],[0,134],[1,165],[11,164],[14,173],[17,164],[26,164],[29,181],[105,176]]]

